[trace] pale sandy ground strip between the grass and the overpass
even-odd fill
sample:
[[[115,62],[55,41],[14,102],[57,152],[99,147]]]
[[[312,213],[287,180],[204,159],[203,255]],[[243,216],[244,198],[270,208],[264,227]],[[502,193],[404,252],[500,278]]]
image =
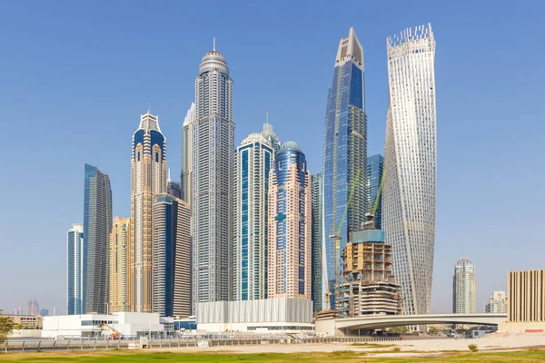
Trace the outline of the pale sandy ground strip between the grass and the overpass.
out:
[[[479,339],[435,339],[435,340],[404,340],[372,342],[385,346],[395,345],[401,348],[400,353],[381,353],[381,357],[411,357],[441,352],[441,350],[469,351],[468,345],[477,344],[480,351],[516,350],[541,346],[545,348],[545,334],[490,334]],[[373,350],[388,350],[385,348],[365,348],[342,343],[328,344],[263,344],[253,346],[227,346],[209,348],[154,348],[150,350],[173,352],[213,352],[233,351],[240,353],[294,353],[294,352],[333,352],[335,350],[354,350],[372,352]],[[403,353],[406,351],[406,353]],[[417,351],[417,352],[415,352]]]

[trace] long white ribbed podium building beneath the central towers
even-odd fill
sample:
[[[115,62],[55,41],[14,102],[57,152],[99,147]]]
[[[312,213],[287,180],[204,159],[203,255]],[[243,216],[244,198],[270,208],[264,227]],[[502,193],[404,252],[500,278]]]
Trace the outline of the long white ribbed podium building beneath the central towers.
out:
[[[207,332],[313,332],[309,299],[255,299],[200,302],[195,306],[197,329]]]

